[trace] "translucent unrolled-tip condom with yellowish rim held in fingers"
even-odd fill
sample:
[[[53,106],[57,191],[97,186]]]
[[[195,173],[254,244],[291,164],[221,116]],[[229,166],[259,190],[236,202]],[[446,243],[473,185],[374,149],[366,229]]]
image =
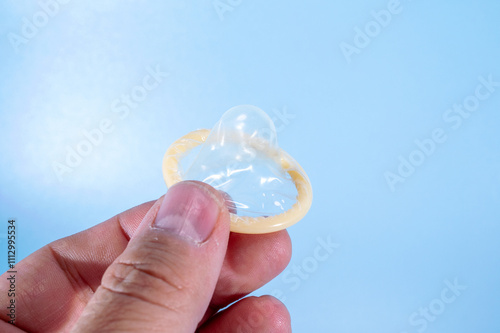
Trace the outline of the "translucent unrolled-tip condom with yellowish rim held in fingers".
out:
[[[252,105],[229,109],[213,129],[175,141],[163,158],[167,187],[199,180],[227,194],[231,231],[262,234],[300,221],[312,204],[304,169],[278,146],[271,118]]]

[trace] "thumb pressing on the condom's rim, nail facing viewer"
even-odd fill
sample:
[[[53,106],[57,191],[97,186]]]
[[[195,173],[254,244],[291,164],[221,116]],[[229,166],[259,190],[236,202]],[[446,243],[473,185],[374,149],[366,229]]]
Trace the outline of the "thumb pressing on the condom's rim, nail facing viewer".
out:
[[[108,267],[73,332],[194,332],[228,237],[229,213],[219,192],[195,181],[172,186]]]

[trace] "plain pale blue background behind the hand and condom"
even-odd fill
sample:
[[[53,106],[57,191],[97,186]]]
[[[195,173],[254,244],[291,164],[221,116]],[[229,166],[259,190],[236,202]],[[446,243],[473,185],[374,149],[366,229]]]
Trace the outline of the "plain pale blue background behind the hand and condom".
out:
[[[385,27],[372,11],[388,1],[224,2],[69,1],[46,22],[35,1],[2,2],[0,217],[18,221],[19,259],[158,198],[174,140],[254,104],[314,188],[290,265],[257,292],[295,332],[499,332],[500,87],[460,127],[443,116],[500,81],[500,2],[401,1]],[[346,56],[357,28],[372,37]],[[113,102],[157,66],[169,75],[120,118]],[[102,119],[113,131],[60,181],[53,163]],[[391,189],[400,156],[420,165]]]

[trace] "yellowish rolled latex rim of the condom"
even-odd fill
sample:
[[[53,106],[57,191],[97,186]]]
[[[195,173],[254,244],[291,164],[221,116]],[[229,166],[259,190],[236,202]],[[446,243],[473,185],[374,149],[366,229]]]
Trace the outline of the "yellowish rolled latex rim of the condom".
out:
[[[162,171],[167,187],[182,181],[179,173],[179,161],[194,147],[202,144],[210,134],[210,130],[201,129],[190,132],[175,141],[163,157]],[[312,204],[312,187],[304,169],[283,149],[280,149],[282,168],[292,177],[297,188],[297,201],[293,206],[274,216],[238,216],[230,213],[231,231],[244,234],[264,234],[288,228],[300,221]],[[291,167],[294,167],[293,169]]]

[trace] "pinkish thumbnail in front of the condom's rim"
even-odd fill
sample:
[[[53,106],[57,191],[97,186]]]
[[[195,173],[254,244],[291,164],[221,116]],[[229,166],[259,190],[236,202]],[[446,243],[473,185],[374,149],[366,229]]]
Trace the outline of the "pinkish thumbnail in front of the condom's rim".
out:
[[[208,189],[181,182],[165,194],[153,225],[201,243],[212,233],[219,214],[219,203]]]

